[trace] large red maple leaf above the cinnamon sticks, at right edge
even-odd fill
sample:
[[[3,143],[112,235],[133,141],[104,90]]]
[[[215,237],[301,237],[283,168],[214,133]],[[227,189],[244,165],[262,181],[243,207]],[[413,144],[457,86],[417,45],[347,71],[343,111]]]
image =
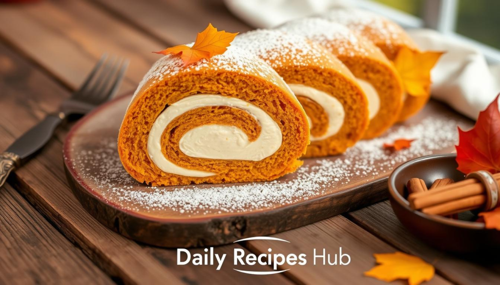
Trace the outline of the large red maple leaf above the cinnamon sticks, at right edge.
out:
[[[500,112],[498,97],[479,113],[469,131],[458,128],[457,169],[465,174],[478,170],[500,172]]]

